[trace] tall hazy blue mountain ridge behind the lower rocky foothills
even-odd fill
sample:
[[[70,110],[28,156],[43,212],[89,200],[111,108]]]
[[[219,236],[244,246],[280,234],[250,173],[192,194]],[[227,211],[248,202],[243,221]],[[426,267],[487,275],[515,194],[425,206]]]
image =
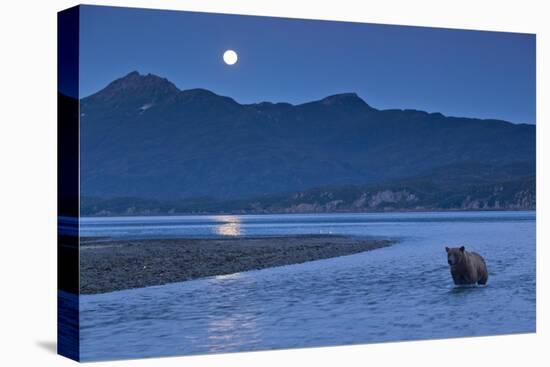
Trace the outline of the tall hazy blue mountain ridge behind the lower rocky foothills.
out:
[[[533,125],[378,110],[353,92],[240,104],[131,72],[80,104],[86,197],[233,199],[535,159]]]

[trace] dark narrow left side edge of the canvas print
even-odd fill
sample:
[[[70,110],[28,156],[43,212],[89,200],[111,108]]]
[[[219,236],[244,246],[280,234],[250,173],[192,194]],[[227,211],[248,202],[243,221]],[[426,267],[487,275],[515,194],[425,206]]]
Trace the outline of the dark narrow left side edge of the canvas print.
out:
[[[58,353],[79,350],[79,7],[58,13],[57,91],[57,341]]]

